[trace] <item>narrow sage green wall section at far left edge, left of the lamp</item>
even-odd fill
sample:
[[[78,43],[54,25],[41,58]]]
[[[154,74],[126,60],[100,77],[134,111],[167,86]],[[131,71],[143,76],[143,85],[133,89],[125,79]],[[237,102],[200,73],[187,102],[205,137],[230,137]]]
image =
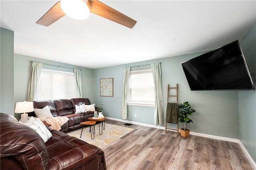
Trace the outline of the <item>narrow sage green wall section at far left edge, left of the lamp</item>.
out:
[[[0,28],[0,112],[14,115],[14,32]]]

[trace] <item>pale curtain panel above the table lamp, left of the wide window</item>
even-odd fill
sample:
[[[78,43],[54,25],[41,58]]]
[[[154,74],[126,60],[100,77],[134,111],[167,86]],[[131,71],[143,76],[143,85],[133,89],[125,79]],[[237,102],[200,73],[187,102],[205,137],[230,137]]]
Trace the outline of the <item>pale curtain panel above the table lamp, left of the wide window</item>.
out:
[[[36,98],[36,87],[40,78],[42,63],[32,62],[30,80],[28,84],[28,97],[27,101],[34,101]]]

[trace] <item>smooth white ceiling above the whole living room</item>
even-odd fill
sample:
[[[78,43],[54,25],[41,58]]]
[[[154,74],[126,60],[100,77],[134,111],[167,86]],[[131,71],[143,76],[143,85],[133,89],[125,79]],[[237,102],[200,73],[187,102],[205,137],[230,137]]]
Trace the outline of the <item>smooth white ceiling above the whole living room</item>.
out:
[[[58,0],[1,0],[1,27],[14,31],[14,53],[88,68],[109,67],[241,41],[256,22],[256,1],[102,0],[137,21],[126,28],[90,13],[36,24]]]

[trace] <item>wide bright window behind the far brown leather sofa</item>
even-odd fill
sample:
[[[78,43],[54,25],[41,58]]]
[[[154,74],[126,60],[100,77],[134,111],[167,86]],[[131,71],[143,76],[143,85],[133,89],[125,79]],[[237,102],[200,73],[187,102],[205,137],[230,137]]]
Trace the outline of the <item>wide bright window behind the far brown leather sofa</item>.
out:
[[[78,97],[74,73],[42,69],[36,100],[71,99]]]

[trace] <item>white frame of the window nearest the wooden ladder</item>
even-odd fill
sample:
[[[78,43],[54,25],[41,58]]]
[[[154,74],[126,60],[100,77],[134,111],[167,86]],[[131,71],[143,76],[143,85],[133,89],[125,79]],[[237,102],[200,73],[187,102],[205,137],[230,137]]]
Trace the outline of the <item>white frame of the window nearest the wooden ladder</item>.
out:
[[[126,95],[126,103],[127,105],[135,105],[135,106],[146,106],[146,107],[155,107],[155,101],[131,101],[130,100],[130,85],[131,85],[131,75],[132,74],[140,74],[140,73],[152,73],[152,69],[143,69],[143,70],[136,70],[130,71],[130,78],[129,78],[129,85],[127,88],[127,95]]]

